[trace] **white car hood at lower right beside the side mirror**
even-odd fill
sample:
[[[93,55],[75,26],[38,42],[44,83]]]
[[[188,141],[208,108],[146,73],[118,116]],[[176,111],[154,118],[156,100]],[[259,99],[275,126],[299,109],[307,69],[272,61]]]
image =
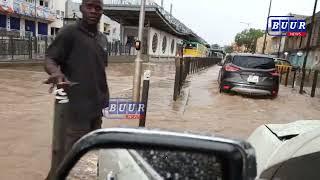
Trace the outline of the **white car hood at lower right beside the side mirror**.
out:
[[[256,151],[258,177],[264,172],[272,174],[291,158],[320,151],[320,120],[265,124],[250,135],[248,142]]]

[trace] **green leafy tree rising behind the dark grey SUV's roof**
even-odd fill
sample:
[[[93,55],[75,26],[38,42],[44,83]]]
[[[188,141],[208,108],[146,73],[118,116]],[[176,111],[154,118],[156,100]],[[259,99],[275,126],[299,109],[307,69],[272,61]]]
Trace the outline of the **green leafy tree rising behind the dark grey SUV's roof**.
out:
[[[238,33],[235,42],[238,46],[244,46],[247,52],[254,53],[256,51],[257,39],[264,35],[264,31],[260,29],[246,29]]]

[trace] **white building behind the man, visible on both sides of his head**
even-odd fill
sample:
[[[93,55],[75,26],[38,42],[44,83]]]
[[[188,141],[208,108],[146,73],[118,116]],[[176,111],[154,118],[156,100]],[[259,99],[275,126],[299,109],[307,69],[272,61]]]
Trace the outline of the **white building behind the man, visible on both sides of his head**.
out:
[[[15,36],[55,36],[65,18],[81,18],[72,0],[0,0],[0,31]],[[99,30],[110,41],[120,39],[120,25],[103,15]]]

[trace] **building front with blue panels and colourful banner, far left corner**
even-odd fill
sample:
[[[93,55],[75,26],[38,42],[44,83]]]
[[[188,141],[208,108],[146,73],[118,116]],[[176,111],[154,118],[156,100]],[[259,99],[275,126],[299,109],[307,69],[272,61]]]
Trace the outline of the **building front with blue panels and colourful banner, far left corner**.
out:
[[[49,0],[0,0],[1,31],[16,36],[49,35],[50,24],[57,19],[53,4]]]

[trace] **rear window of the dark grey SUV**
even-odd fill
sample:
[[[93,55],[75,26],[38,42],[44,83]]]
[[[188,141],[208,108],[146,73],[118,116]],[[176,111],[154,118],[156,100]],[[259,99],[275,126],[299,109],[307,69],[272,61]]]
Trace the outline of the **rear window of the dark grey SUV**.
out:
[[[232,64],[250,69],[273,69],[275,63],[272,58],[254,56],[235,56]]]

